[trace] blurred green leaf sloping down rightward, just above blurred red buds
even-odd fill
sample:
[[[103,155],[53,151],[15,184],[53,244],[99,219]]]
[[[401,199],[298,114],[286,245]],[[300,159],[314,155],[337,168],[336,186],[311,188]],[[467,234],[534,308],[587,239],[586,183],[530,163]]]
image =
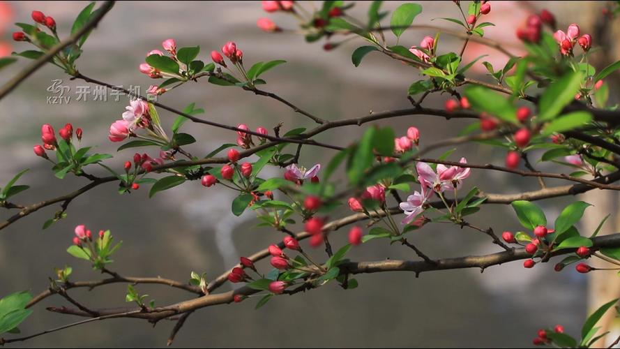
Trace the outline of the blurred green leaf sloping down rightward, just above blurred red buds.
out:
[[[482,86],[471,86],[465,89],[465,96],[475,110],[487,112],[513,124],[517,123],[517,109],[511,101],[497,92]]]

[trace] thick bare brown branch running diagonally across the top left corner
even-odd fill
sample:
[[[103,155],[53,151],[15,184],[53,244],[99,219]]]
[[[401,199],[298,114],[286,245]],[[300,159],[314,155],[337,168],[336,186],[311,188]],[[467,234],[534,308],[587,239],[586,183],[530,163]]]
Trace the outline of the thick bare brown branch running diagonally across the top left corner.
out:
[[[56,54],[64,50],[66,47],[74,45],[75,43],[77,43],[77,40],[80,40],[80,38],[84,36],[84,34],[95,28],[100,22],[100,20],[103,19],[103,16],[105,16],[105,14],[112,9],[112,6],[114,6],[114,1],[105,1],[105,3],[103,3],[103,5],[97,10],[98,13],[93,17],[92,20],[86,22],[86,24],[84,24],[84,27],[80,28],[80,30],[76,31],[74,34],[71,34],[71,36],[69,36],[66,40],[63,40],[60,43],[57,43],[56,45],[51,47],[50,50],[43,54],[43,56],[33,61],[29,66],[24,68],[24,70],[20,71],[20,73],[17,73],[17,75],[15,75],[13,79],[6,82],[6,84],[4,84],[0,88],[0,100],[4,98],[4,96],[9,94],[10,91],[13,91],[15,87],[17,87],[24,80],[26,80],[27,77],[29,77],[32,73],[38,70],[38,68],[42,67],[44,64],[47,63],[47,61],[50,61],[50,59],[54,58]]]

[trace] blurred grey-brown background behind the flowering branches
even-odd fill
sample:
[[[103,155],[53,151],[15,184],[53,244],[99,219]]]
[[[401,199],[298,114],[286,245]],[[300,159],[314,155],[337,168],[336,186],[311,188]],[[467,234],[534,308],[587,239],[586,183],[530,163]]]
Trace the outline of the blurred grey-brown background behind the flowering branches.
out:
[[[416,24],[434,24],[458,29],[455,24],[437,17],[459,17],[452,1],[419,1],[422,15]],[[463,1],[468,3],[469,1]],[[315,5],[319,6],[317,1]],[[386,1],[384,8],[393,10],[401,1]],[[527,15],[540,9],[552,10],[565,29],[571,22],[580,24],[583,33],[593,36],[595,45],[605,45],[605,50],[595,54],[594,66],[603,68],[610,61],[617,61],[617,43],[605,42],[619,34],[616,27],[600,30],[600,11],[604,1],[490,1],[492,11],[485,21],[496,27],[486,27],[489,38],[500,40],[509,50],[521,52],[514,31]],[[25,43],[10,42],[13,22],[31,22],[31,10],[52,15],[58,23],[61,37],[68,35],[70,25],[86,1],[0,1],[0,56],[11,51],[29,50]],[[466,5],[467,6],[467,5]],[[351,15],[365,18],[368,3],[360,2]],[[137,67],[144,62],[146,52],[161,49],[160,43],[175,38],[179,47],[200,45],[199,59],[210,61],[209,52],[218,50],[224,43],[234,40],[244,52],[246,64],[255,61],[285,59],[287,64],[264,75],[269,82],[265,89],[280,94],[301,108],[326,119],[360,117],[370,110],[379,112],[410,107],[407,88],[418,80],[416,70],[391,61],[379,54],[369,54],[358,68],[351,64],[351,52],[363,45],[361,40],[348,42],[338,50],[325,52],[322,43],[307,44],[295,34],[265,34],[257,29],[259,17],[271,17],[281,27],[294,28],[292,18],[282,13],[266,16],[260,1],[226,2],[138,2],[121,1],[99,24],[84,45],[84,54],[78,60],[80,72],[111,84],[130,87],[139,85],[142,93],[153,83],[139,73]],[[409,30],[401,38],[402,45],[418,45],[423,36],[434,31]],[[13,45],[13,47],[11,47]],[[462,43],[442,35],[440,52],[460,49]],[[487,61],[499,66],[506,58],[498,52],[470,43],[465,61],[480,54],[491,54]],[[29,64],[20,59],[17,64],[1,71],[0,83],[6,82],[18,70]],[[476,64],[478,78],[487,79],[481,64]],[[50,104],[47,87],[52,80],[62,79],[70,87],[68,104]],[[608,81],[612,91],[617,81]],[[59,69],[48,65],[38,70],[18,87],[13,94],[0,101],[0,183],[6,183],[24,168],[31,170],[20,183],[31,186],[17,198],[20,202],[38,202],[44,198],[68,193],[84,184],[85,179],[68,176],[64,180],[54,177],[50,165],[34,156],[33,144],[40,142],[40,125],[52,124],[56,129],[66,122],[84,129],[83,145],[97,145],[96,151],[114,154],[109,160],[113,168],[133,156],[133,149],[115,153],[119,144],[107,140],[107,129],[119,119],[128,101],[116,102],[76,101],[75,91],[89,86],[80,81],[69,81]],[[91,91],[93,86],[90,87]],[[442,107],[447,96],[433,95],[425,103],[429,107]],[[617,103],[612,94],[610,103]],[[254,96],[232,87],[217,87],[206,81],[186,84],[169,94],[160,96],[160,102],[182,109],[196,103],[206,113],[206,119],[227,124],[244,122],[254,129],[264,126],[271,130],[282,122],[284,129],[300,126],[312,127],[308,121],[271,99]],[[160,111],[163,123],[172,125],[175,116]],[[386,124],[386,122],[379,123]],[[457,135],[467,122],[446,122],[437,117],[401,117],[389,121],[397,134],[404,134],[408,126],[421,131],[421,143],[430,144]],[[319,135],[317,140],[346,146],[355,140],[364,127],[338,128]],[[236,135],[220,129],[193,124],[184,126],[199,140],[188,147],[192,154],[204,156],[219,144],[234,142]],[[439,156],[446,149],[435,151]],[[151,149],[151,156],[158,155]],[[332,151],[305,147],[301,165],[326,164]],[[467,156],[471,163],[503,163],[504,151],[467,144],[458,147],[451,160]],[[555,165],[539,165],[539,170],[557,170]],[[282,170],[269,168],[266,177],[280,176]],[[105,174],[97,168],[96,174]],[[340,174],[341,175],[341,174]],[[562,184],[547,181],[548,185]],[[499,172],[472,171],[464,184],[466,188],[477,185],[488,193],[517,193],[538,188],[536,179],[523,179]],[[115,255],[112,269],[125,276],[162,276],[188,280],[190,272],[206,272],[213,279],[238,261],[240,255],[249,255],[259,248],[279,241],[280,233],[265,228],[254,228],[257,223],[251,213],[235,217],[229,210],[233,195],[216,186],[204,189],[199,181],[148,198],[148,189],[141,188],[131,195],[119,195],[114,184],[100,186],[89,195],[74,200],[68,217],[41,230],[47,219],[59,207],[47,207],[0,232],[0,295],[17,290],[44,290],[47,279],[54,276],[54,267],[73,267],[71,279],[90,280],[102,276],[94,273],[88,263],[80,262],[65,253],[77,224],[86,224],[93,231],[112,230],[123,246]],[[557,198],[539,202],[549,221],[572,198]],[[587,221],[580,227],[588,232],[596,228],[607,213],[618,211],[617,195],[591,193],[582,200],[596,205],[589,209]],[[342,211],[345,213],[346,211]],[[2,218],[13,211],[1,212]],[[335,214],[334,214],[335,216]],[[617,217],[608,221],[603,232],[619,231]],[[616,221],[614,221],[616,220]],[[505,205],[484,205],[471,223],[490,226],[496,232],[518,230],[520,225],[512,209]],[[295,229],[292,229],[295,230]],[[333,235],[333,246],[342,246],[346,234]],[[430,258],[483,254],[497,251],[487,236],[474,230],[460,230],[449,225],[428,225],[411,234],[411,240]],[[324,258],[322,250],[312,251],[317,258]],[[406,247],[389,246],[384,241],[363,244],[350,253],[352,260],[415,259]],[[267,269],[269,262],[261,262]],[[584,319],[594,306],[618,297],[617,276],[598,274],[598,279],[588,280],[573,268],[564,272],[553,271],[552,264],[524,269],[522,263],[513,262],[501,267],[491,267],[481,274],[478,269],[422,274],[386,273],[357,276],[360,287],[342,290],[335,283],[312,290],[298,297],[276,297],[262,309],[255,311],[257,298],[241,304],[215,306],[194,313],[177,336],[174,346],[179,347],[315,347],[315,346],[420,346],[420,347],[522,347],[530,346],[536,331],[543,327],[564,325],[566,332],[577,335]],[[229,290],[224,285],[218,292]],[[138,285],[137,290],[165,305],[188,299],[192,295],[165,286]],[[91,292],[70,292],[81,302],[97,307],[126,306],[126,285],[109,285]],[[39,332],[78,320],[70,315],[45,311],[46,306],[65,304],[60,297],[38,304],[35,313],[20,328],[23,334]],[[605,320],[610,327],[612,318]],[[123,347],[165,346],[174,322],[161,321],[153,328],[142,320],[106,320],[56,332],[13,346],[62,346],[62,347]],[[612,329],[613,331],[613,329]],[[615,336],[613,336],[615,338]],[[611,336],[610,336],[611,339]]]

